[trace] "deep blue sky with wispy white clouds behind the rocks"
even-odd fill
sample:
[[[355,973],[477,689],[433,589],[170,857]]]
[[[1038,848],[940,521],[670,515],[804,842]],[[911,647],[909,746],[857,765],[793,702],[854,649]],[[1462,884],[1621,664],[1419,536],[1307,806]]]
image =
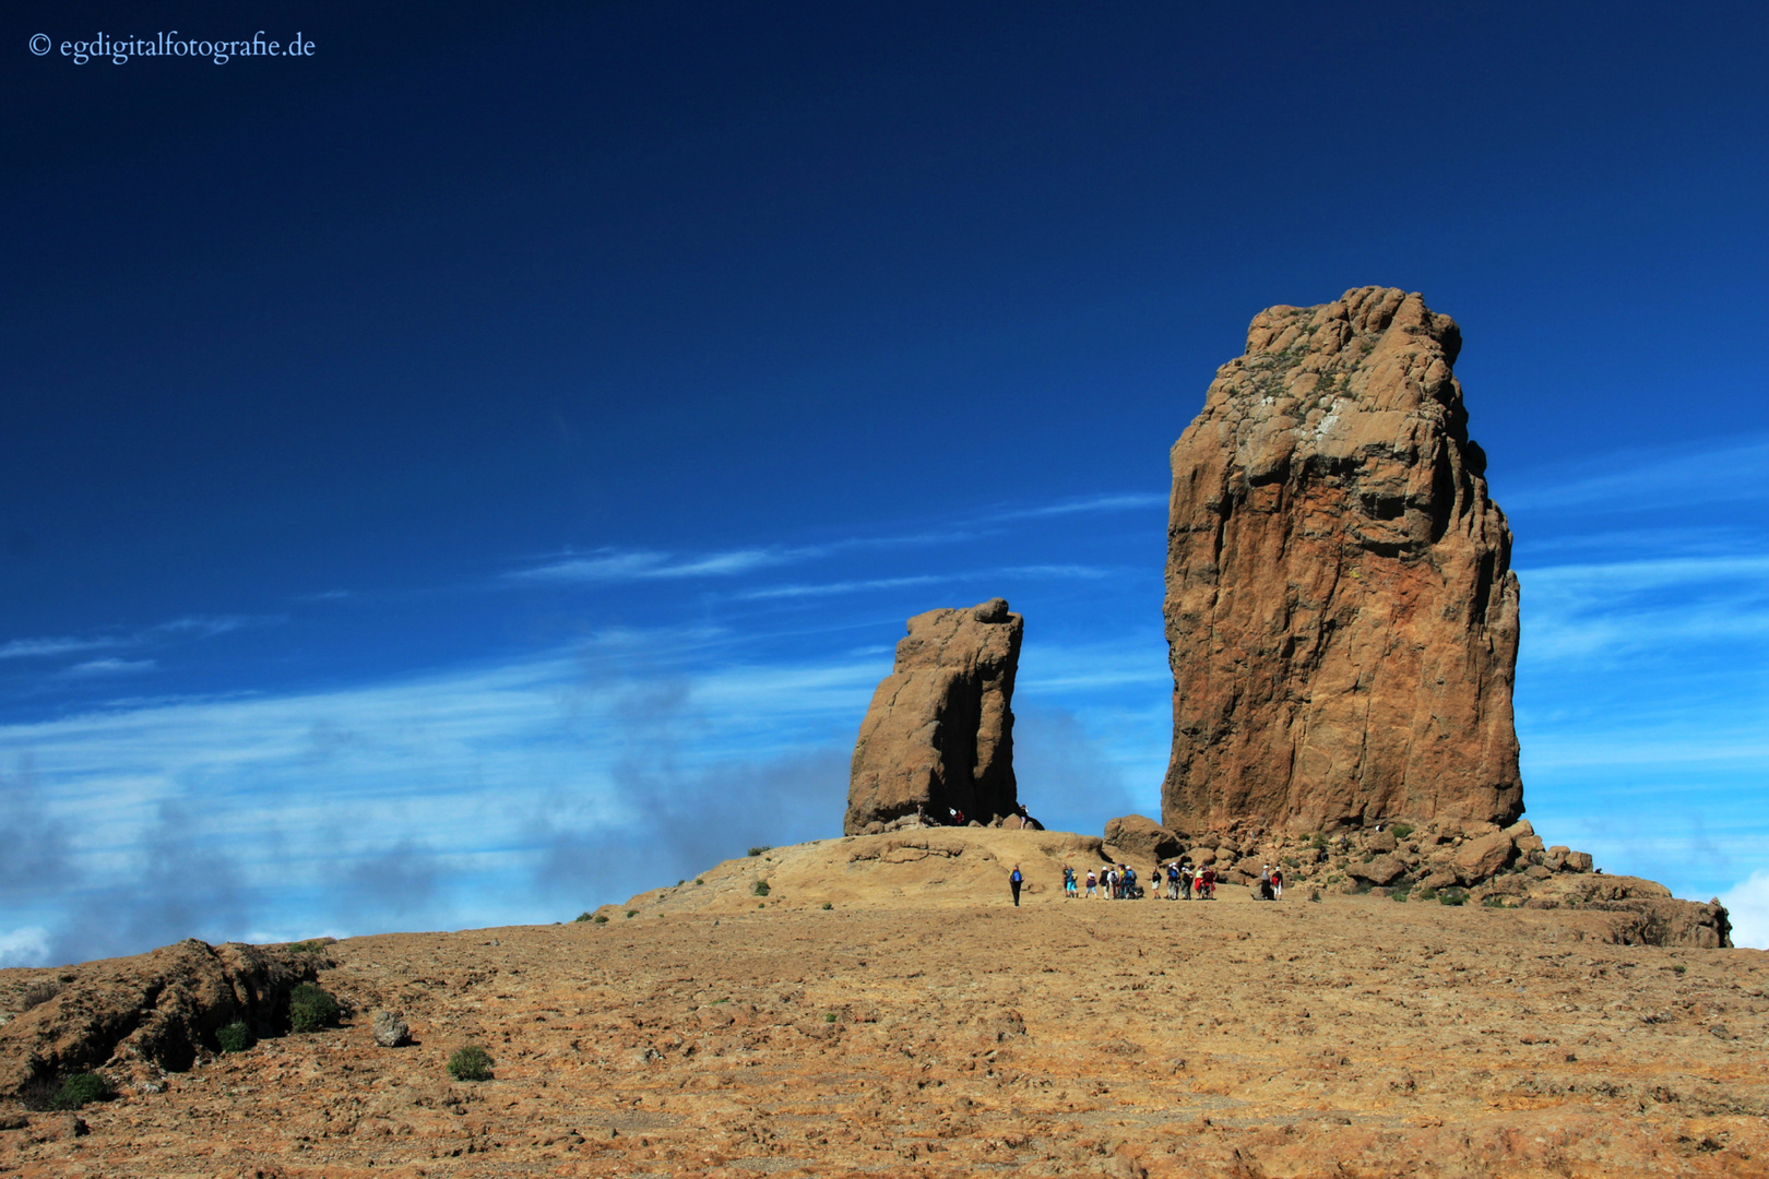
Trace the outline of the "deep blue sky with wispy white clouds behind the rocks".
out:
[[[1035,813],[1155,811],[1168,445],[1366,283],[1463,325],[1528,817],[1769,944],[1764,9],[0,25],[0,962],[833,834],[902,620],[992,594]],[[235,28],[315,51],[28,49]]]

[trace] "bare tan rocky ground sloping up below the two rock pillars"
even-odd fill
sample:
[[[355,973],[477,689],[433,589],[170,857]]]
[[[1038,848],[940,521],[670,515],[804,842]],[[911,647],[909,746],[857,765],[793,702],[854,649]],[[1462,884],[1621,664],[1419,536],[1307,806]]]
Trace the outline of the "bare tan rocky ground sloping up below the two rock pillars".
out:
[[[1585,907],[1061,900],[1091,847],[830,840],[603,923],[322,946],[343,1025],[4,1101],[0,1174],[1769,1175],[1769,955]],[[0,1008],[69,979],[0,1050],[126,972],[0,972]],[[494,1080],[448,1076],[467,1043]]]

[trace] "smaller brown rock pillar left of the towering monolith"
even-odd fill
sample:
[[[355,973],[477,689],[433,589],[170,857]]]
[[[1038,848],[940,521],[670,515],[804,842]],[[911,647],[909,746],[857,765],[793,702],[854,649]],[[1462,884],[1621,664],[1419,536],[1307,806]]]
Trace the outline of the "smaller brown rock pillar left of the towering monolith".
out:
[[[923,810],[991,822],[1014,813],[1014,672],[1024,620],[992,597],[909,619],[895,670],[860,721],[846,834]]]

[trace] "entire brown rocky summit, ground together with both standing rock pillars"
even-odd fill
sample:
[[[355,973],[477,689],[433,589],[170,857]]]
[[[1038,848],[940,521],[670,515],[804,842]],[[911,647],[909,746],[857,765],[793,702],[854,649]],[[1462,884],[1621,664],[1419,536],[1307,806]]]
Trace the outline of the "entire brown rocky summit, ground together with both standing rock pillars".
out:
[[[1521,817],[1459,345],[1369,286],[1217,373],[1160,818],[1030,824],[1024,619],[930,610],[840,838],[571,923],[0,970],[0,1175],[1769,1175],[1769,955]],[[1143,894],[1063,887],[1109,868]]]

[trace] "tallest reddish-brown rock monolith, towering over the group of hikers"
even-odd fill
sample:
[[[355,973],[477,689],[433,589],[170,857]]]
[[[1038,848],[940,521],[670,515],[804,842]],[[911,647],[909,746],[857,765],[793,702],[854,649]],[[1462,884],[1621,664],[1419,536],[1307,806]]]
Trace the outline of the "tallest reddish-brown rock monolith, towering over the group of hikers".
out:
[[[1523,811],[1518,582],[1459,346],[1367,286],[1260,313],[1217,371],[1173,447],[1168,827]]]

